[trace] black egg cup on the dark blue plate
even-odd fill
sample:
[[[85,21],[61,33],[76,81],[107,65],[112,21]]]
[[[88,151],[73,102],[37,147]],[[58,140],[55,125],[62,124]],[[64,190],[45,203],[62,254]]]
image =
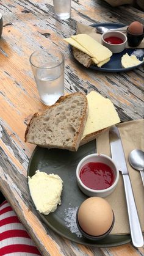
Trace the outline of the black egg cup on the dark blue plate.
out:
[[[126,31],[126,35],[128,38],[128,45],[131,47],[139,46],[144,37],[144,29],[143,29],[143,33],[138,35],[132,34],[131,32],[129,32],[128,29],[129,27],[127,28],[127,31]]]

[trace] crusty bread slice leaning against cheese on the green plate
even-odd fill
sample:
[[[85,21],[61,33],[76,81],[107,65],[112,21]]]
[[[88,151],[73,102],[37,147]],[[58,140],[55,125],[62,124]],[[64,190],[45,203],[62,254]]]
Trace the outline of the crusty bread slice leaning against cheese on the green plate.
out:
[[[87,114],[87,97],[83,93],[76,92],[60,97],[42,114],[34,114],[27,125],[25,142],[41,147],[76,151]]]

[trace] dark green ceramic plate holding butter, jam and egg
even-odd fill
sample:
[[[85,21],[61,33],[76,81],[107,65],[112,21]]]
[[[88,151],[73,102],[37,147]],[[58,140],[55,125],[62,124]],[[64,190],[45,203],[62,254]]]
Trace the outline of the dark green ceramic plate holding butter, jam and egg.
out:
[[[67,212],[68,208],[74,209],[79,207],[87,199],[87,196],[77,186],[76,166],[84,156],[90,155],[91,153],[96,153],[95,141],[79,147],[77,152],[41,147],[35,148],[29,162],[27,176],[32,177],[35,174],[35,170],[39,169],[48,174],[58,174],[63,180],[62,205],[58,206],[57,210],[48,216],[39,212],[38,214],[48,227],[60,236],[64,236],[76,243],[96,247],[111,247],[127,244],[131,241],[130,235],[108,235],[103,240],[96,242],[87,240],[86,238],[77,236],[77,233],[72,233],[65,222],[67,217],[65,211]]]

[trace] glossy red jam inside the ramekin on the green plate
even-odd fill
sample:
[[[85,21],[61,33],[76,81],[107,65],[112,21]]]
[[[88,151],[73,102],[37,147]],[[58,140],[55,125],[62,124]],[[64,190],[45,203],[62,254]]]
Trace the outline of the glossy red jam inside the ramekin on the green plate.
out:
[[[114,174],[107,164],[90,162],[82,167],[80,178],[88,188],[101,190],[112,186]]]

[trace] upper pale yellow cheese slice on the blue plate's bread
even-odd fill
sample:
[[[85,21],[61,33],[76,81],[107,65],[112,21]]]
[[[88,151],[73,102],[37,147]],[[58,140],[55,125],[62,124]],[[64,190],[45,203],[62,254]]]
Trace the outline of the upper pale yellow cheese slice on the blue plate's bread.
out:
[[[106,60],[112,56],[112,52],[101,43],[98,43],[95,39],[87,34],[72,35],[73,38],[79,45],[87,49],[92,56],[99,62]]]

